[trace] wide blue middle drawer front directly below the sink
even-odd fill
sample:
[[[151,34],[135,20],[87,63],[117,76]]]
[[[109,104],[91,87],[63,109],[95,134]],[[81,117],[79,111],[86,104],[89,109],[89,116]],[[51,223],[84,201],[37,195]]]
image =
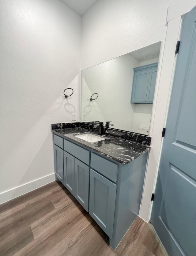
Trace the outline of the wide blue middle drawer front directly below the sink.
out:
[[[64,139],[64,150],[73,155],[75,158],[81,160],[85,164],[89,165],[90,151],[77,146],[76,144]]]

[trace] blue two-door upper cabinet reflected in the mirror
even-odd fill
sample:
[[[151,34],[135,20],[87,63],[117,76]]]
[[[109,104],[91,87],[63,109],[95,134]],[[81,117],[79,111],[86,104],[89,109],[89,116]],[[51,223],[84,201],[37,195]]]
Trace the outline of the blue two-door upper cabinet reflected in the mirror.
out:
[[[153,103],[158,62],[134,68],[131,103]]]

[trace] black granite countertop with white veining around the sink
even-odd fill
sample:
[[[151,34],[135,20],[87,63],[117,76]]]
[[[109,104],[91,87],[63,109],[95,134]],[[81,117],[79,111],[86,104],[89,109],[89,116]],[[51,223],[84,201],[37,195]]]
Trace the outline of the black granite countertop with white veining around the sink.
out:
[[[128,164],[135,158],[139,157],[141,154],[145,154],[150,150],[150,146],[142,145],[136,142],[124,140],[121,138],[116,138],[111,135],[99,135],[96,132],[76,127],[76,128],[66,128],[52,130],[54,134],[61,136],[62,138],[67,138],[79,145],[82,145],[96,153],[104,155],[116,162],[122,164]],[[75,137],[80,133],[90,133],[95,134],[103,138],[107,138],[98,142],[87,142],[80,138]]]

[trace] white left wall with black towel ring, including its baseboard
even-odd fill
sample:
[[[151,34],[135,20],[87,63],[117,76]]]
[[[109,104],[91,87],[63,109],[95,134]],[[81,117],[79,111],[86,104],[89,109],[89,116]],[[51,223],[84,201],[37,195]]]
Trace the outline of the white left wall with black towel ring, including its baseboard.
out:
[[[81,17],[58,0],[6,0],[0,24],[2,203],[54,180],[51,123],[79,114]]]

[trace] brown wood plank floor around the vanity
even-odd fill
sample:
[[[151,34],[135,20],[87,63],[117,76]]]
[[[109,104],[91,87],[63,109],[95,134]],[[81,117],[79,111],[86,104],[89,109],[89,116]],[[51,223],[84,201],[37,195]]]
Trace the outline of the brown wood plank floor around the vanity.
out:
[[[0,255],[165,256],[153,227],[137,218],[114,251],[109,239],[59,182],[0,205]]]

